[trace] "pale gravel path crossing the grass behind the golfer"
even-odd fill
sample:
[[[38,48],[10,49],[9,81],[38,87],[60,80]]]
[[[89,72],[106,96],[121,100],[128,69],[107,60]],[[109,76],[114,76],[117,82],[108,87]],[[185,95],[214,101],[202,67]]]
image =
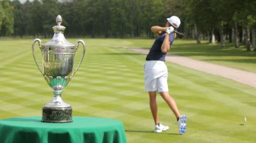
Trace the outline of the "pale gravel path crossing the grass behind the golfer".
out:
[[[130,51],[139,52],[142,54],[148,54],[148,49],[142,48],[132,48],[132,47],[123,47]],[[256,88],[256,73],[254,72],[246,72],[243,70],[238,70],[234,68],[229,68],[222,65],[217,65],[205,61],[193,60],[184,56],[178,56],[175,54],[168,53],[166,56],[166,61],[170,61],[176,63],[178,65],[188,67],[194,70],[198,70],[201,72],[206,72],[214,75],[219,75],[227,79],[234,80],[236,82],[240,82],[252,87]]]

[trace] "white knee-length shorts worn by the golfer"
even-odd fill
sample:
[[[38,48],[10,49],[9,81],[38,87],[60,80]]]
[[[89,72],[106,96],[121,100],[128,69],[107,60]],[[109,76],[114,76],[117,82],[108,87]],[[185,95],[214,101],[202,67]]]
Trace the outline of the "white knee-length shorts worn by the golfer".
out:
[[[145,92],[168,92],[167,76],[167,66],[164,61],[146,61]]]

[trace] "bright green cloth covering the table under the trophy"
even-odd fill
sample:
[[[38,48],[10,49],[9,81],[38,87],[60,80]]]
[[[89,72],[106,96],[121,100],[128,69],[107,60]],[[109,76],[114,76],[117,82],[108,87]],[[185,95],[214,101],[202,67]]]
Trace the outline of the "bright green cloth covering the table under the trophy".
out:
[[[73,123],[42,123],[41,117],[0,120],[0,143],[126,143],[118,120],[73,117]]]

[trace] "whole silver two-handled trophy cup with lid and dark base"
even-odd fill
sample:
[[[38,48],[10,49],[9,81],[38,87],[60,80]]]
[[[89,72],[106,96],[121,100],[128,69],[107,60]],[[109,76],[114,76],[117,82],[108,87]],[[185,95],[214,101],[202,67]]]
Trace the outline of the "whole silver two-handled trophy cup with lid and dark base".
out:
[[[45,81],[53,89],[54,98],[43,107],[42,122],[47,123],[70,123],[72,120],[72,108],[61,99],[61,92],[68,82],[77,72],[85,54],[85,43],[82,40],[77,41],[77,45],[69,43],[64,37],[66,27],[61,26],[62,18],[60,15],[56,18],[57,25],[53,27],[54,36],[51,41],[41,44],[40,39],[35,39],[32,43],[34,61],[39,71],[43,74]],[[43,70],[37,63],[34,44],[38,41],[39,48],[42,51]],[[78,50],[79,43],[83,45],[83,53],[77,69],[74,71],[75,53]]]

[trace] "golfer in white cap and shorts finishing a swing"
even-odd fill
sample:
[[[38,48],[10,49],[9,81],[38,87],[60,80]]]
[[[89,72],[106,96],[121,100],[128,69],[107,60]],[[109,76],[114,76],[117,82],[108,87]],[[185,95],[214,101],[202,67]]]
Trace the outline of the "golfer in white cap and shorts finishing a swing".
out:
[[[169,129],[168,126],[164,126],[159,123],[156,104],[156,91],[160,93],[162,98],[167,102],[168,106],[175,114],[178,121],[179,133],[184,134],[186,132],[187,116],[180,115],[176,102],[168,93],[167,84],[167,66],[165,64],[165,57],[170,50],[176,34],[174,30],[178,29],[180,20],[177,16],[171,16],[167,18],[166,27],[153,26],[151,31],[158,34],[153,46],[146,57],[144,65],[145,76],[145,92],[148,92],[150,99],[150,109],[155,120],[155,132],[161,133]]]

